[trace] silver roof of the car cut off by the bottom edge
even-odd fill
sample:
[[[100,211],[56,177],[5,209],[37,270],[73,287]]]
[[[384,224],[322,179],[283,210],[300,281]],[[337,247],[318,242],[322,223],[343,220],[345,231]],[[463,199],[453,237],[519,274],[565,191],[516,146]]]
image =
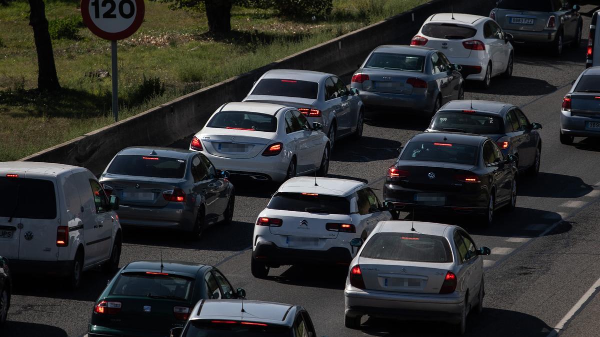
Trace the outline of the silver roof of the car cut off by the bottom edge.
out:
[[[202,300],[194,308],[190,320],[226,318],[291,326],[297,308],[295,305],[257,300]]]

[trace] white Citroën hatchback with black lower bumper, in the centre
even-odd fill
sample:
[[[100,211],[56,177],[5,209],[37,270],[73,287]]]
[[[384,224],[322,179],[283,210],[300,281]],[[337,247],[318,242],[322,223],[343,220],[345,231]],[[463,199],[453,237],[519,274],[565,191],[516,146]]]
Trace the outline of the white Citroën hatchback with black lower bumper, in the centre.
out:
[[[392,215],[365,183],[349,179],[295,177],[275,192],[256,219],[252,275],[271,267],[304,263],[348,264],[377,222]]]

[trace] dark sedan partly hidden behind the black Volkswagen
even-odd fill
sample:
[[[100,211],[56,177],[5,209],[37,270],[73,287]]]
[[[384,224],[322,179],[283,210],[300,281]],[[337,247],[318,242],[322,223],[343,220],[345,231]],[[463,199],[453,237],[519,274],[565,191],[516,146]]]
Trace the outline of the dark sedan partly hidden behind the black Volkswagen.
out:
[[[490,137],[502,154],[515,155],[520,171],[537,174],[542,156],[539,123],[511,104],[493,101],[452,101],[431,119],[427,131],[450,131]]]

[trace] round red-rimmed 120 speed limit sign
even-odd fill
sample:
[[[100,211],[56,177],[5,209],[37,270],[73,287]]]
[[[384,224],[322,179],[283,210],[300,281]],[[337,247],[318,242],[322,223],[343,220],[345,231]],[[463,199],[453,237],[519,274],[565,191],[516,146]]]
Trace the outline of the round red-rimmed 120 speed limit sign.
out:
[[[144,19],[143,0],[81,0],[83,23],[105,40],[128,38]]]

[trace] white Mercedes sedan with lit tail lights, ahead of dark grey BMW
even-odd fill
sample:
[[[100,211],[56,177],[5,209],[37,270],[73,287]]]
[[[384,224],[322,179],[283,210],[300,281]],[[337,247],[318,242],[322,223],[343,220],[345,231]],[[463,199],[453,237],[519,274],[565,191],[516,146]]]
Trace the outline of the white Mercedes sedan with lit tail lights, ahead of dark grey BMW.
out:
[[[219,107],[190,143],[217,169],[281,182],[299,174],[325,176],[329,139],[293,107],[235,102]]]

